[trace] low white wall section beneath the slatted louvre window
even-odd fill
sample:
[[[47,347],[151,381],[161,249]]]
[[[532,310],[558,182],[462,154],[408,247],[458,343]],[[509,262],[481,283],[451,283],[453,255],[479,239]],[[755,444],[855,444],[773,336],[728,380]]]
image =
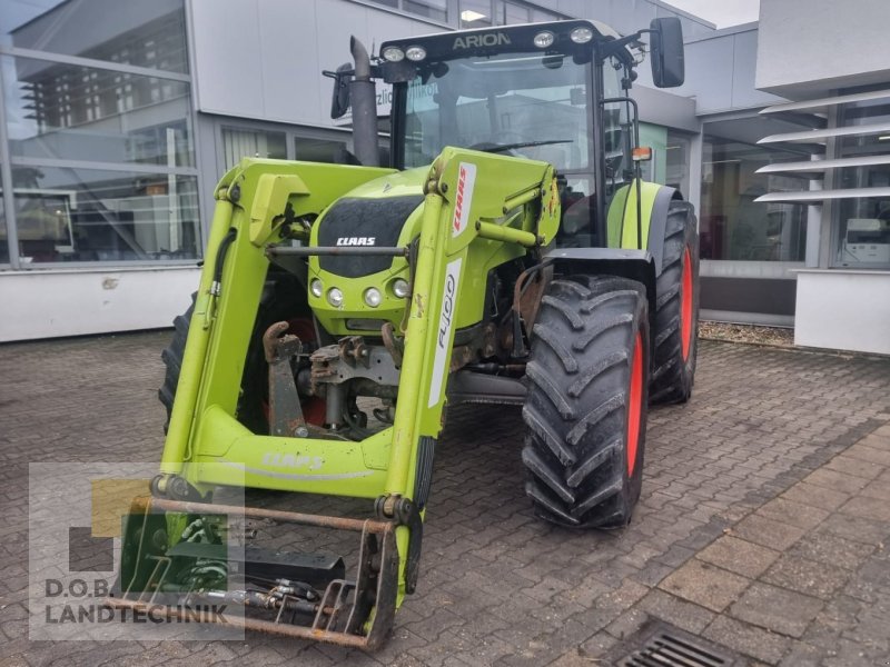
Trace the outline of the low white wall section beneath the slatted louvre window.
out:
[[[794,344],[890,355],[890,271],[798,272]]]

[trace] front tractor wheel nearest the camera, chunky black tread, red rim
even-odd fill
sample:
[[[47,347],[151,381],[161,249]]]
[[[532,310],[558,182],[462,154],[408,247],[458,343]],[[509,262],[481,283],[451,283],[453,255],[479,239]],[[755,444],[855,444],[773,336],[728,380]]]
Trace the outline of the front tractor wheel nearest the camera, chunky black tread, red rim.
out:
[[[554,280],[526,367],[522,460],[535,514],[626,526],[642,486],[649,388],[645,289],[612,276]]]

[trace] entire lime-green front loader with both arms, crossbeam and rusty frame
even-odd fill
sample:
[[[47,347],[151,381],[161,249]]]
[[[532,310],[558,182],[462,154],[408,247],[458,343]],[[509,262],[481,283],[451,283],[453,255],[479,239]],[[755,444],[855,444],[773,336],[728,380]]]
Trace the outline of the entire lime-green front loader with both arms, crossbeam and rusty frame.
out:
[[[247,629],[366,648],[377,646],[389,631],[395,609],[417,583],[423,511],[452,365],[454,313],[458,299],[474,298],[473,283],[465,279],[471,246],[482,243],[487,252],[510,246],[520,256],[548,243],[558,227],[560,198],[550,165],[444,149],[423,186],[393,426],[360,441],[332,440],[306,428],[298,409],[281,415],[280,406],[270,400],[278,425],[274,435],[251,432],[238,421],[236,407],[270,257],[337,252],[329,247],[294,247],[293,239],[305,242],[308,235],[295,232],[291,222],[317,216],[358,183],[392,172],[246,159],[224,177],[217,190],[208,261],[190,322],[161,474],[152,482],[157,498],[150,508],[197,515],[220,511],[224,508],[206,502],[220,485],[375,499],[376,518],[365,521],[293,512],[276,517],[288,524],[360,531],[362,552],[376,549],[382,555],[366,564],[360,559],[355,580],[339,584],[339,589],[328,585],[310,626],[245,619]],[[368,250],[408,255],[404,248]],[[275,347],[275,336],[283,330],[269,328],[265,340],[267,359],[279,365],[279,371],[286,359],[277,357],[276,350],[300,349],[293,336],[279,339],[280,347]],[[281,375],[276,374],[275,382],[283,384]],[[295,394],[286,381],[284,386],[285,395]],[[297,437],[275,435],[287,425],[296,425]],[[268,512],[244,510],[246,516]],[[147,509],[144,520],[149,516]],[[373,545],[375,540],[380,544]],[[175,546],[176,536],[170,542]],[[137,565],[142,566],[150,567]],[[152,584],[145,573],[140,577]],[[110,605],[146,604],[122,588],[123,597],[109,600]],[[336,608],[347,588],[358,611],[344,629],[334,629],[325,609]],[[169,613],[176,614],[175,609]]]

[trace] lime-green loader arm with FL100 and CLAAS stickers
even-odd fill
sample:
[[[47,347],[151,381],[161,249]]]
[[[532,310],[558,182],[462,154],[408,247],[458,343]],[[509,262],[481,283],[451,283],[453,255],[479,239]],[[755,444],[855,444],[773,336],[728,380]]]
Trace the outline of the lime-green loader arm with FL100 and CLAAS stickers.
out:
[[[393,425],[389,467],[378,507],[390,517],[426,505],[435,439],[442,430],[455,316],[466,297],[467,250],[477,239],[534,247],[556,232],[560,200],[553,168],[478,151],[446,148],[424,186],[419,250],[405,335],[402,381]],[[540,202],[537,207],[525,205]],[[533,211],[528,213],[528,211]],[[421,524],[399,526],[403,556],[399,594],[413,593]],[[399,595],[399,600],[400,600]]]

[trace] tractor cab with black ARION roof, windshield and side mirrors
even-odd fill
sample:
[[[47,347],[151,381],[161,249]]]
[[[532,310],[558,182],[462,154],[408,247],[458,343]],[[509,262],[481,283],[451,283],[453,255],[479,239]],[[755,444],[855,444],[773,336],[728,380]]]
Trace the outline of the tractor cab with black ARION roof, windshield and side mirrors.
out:
[[[446,146],[550,162],[563,211],[557,245],[607,246],[609,205],[639,177],[634,158],[647,155],[634,152],[629,97],[643,33],[655,84],[681,84],[678,19],[655,19],[627,37],[574,20],[384,42],[373,70],[393,84],[390,166],[429,165]]]

